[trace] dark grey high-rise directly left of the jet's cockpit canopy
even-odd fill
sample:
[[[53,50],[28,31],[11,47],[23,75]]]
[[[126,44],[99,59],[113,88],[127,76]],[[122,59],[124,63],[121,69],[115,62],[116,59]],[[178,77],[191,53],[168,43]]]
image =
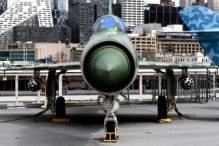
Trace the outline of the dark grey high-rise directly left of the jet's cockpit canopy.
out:
[[[69,3],[69,27],[72,43],[88,42],[93,24],[102,16],[102,6],[95,2]]]

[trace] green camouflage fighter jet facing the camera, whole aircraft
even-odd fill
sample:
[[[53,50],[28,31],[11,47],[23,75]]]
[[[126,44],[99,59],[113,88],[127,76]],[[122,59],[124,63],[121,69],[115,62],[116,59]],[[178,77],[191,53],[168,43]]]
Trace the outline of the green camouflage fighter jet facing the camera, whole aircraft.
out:
[[[19,68],[8,68],[7,70],[33,70],[33,78],[28,82],[31,91],[40,90],[44,83],[40,78],[41,70],[48,70],[46,84],[46,97],[48,99],[47,108],[56,112],[57,117],[65,114],[64,97],[56,99],[55,82],[57,76],[64,74],[68,70],[78,70],[86,83],[94,90],[105,96],[102,103],[106,113],[104,129],[107,134],[111,133],[111,138],[117,139],[119,136],[119,126],[116,113],[119,110],[119,94],[124,95],[123,90],[127,89],[135,80],[138,70],[154,69],[158,73],[167,76],[168,93],[172,92],[174,78],[172,69],[182,69],[181,86],[188,90],[193,86],[193,81],[188,76],[189,68],[211,68],[205,65],[188,65],[183,63],[164,62],[139,62],[135,47],[126,34],[126,27],[123,21],[112,14],[112,2],[109,1],[109,14],[99,18],[93,26],[93,35],[84,48],[80,62],[68,62],[61,64],[46,64],[39,66],[27,66]],[[166,69],[166,73],[161,69]],[[57,70],[61,70],[56,73]],[[169,93],[170,95],[170,93]],[[169,99],[174,99],[175,95],[170,95]],[[175,109],[177,111],[177,108]],[[166,98],[158,98],[158,116],[166,117]],[[107,135],[106,134],[106,135]],[[108,135],[109,137],[109,135]]]

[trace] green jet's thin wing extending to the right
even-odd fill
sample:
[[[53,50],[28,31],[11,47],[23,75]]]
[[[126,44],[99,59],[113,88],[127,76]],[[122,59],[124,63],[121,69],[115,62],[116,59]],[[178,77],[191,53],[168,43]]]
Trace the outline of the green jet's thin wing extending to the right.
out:
[[[186,63],[169,63],[169,62],[153,62],[153,61],[144,61],[139,62],[139,69],[207,69],[207,68],[216,68],[215,66],[210,65],[196,65],[196,64],[186,64]]]

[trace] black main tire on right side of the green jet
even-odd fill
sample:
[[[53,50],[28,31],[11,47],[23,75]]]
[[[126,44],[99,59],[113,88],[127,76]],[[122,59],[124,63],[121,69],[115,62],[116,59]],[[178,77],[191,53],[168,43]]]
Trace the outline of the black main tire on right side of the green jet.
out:
[[[167,118],[167,104],[165,96],[158,96],[158,119]]]

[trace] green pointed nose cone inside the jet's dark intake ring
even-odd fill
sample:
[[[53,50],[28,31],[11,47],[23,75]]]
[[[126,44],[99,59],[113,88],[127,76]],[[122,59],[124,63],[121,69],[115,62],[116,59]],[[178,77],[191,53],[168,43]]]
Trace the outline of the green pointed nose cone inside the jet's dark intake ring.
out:
[[[121,51],[104,48],[96,52],[90,63],[93,79],[101,85],[113,86],[123,81],[128,74],[129,63]]]

